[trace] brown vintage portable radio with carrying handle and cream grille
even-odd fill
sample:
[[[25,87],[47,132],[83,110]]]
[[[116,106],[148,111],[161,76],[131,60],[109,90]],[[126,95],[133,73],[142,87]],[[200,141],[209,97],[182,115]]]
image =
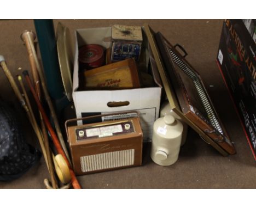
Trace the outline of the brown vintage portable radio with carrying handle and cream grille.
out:
[[[73,121],[96,117],[101,115],[70,119],[65,123],[75,174],[141,166],[143,133],[139,118],[68,126]]]

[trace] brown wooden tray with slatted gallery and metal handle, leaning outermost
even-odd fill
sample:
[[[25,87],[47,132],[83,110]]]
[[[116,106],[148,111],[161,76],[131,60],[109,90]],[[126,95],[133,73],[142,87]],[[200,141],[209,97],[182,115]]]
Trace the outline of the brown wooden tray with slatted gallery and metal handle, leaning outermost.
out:
[[[234,145],[213,107],[200,75],[161,33],[155,37],[184,115],[225,151],[235,154]]]

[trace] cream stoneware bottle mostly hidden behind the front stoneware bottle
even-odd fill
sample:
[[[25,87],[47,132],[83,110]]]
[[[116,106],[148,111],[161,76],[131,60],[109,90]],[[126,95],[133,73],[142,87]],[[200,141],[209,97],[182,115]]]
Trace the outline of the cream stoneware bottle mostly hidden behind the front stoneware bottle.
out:
[[[164,103],[162,103],[161,108],[160,108],[160,117],[164,117],[167,114],[171,114],[174,119],[177,119],[179,121],[181,121],[182,125],[183,125],[183,133],[182,133],[182,143],[181,145],[183,145],[187,139],[187,135],[188,135],[188,124],[184,123],[184,121],[182,121],[182,118],[179,117],[179,115],[177,115],[175,112],[172,111],[171,106],[167,101],[165,101]]]

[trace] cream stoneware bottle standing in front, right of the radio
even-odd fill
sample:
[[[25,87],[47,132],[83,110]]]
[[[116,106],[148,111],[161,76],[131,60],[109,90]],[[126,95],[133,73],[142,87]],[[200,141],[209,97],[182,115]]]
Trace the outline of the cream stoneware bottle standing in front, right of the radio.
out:
[[[150,156],[160,166],[170,166],[178,160],[183,125],[170,114],[155,121]]]

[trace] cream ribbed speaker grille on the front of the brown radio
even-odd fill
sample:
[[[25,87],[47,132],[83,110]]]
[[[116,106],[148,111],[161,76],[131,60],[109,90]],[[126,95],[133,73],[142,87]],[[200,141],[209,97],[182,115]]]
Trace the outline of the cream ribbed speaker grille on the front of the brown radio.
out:
[[[80,157],[82,172],[132,166],[134,153],[135,150],[130,149]]]

